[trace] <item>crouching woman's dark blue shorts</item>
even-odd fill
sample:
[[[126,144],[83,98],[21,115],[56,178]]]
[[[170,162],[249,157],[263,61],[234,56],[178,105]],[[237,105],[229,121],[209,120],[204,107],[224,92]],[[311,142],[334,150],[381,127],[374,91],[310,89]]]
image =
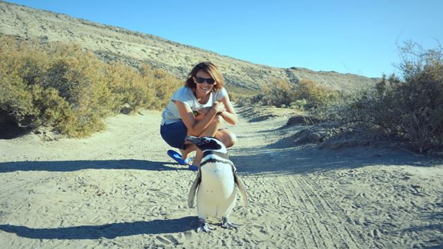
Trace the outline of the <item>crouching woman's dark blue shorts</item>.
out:
[[[185,149],[185,138],[188,128],[183,121],[172,124],[163,124],[160,127],[160,135],[168,145],[177,149]]]

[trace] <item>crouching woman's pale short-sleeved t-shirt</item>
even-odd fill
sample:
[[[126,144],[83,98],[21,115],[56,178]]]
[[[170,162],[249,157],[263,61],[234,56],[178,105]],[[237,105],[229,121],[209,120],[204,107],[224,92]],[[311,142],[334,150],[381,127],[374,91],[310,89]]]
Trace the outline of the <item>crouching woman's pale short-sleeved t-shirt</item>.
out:
[[[172,100],[183,102],[183,104],[190,107],[192,111],[198,111],[204,107],[212,107],[214,102],[220,101],[226,95],[228,95],[228,92],[224,88],[219,89],[219,91],[212,91],[210,92],[210,96],[206,104],[200,104],[197,98],[195,98],[194,93],[192,93],[192,89],[182,86],[175,91],[168,104],[168,107],[166,107],[165,111],[161,113],[161,124],[172,124],[181,120],[179,109],[177,109],[177,104],[175,104]]]

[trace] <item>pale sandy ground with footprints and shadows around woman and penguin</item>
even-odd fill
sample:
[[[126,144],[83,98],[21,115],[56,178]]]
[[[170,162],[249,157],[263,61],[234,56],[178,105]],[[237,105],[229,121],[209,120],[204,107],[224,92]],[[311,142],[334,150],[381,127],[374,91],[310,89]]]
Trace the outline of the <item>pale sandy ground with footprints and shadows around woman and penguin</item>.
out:
[[[87,139],[0,140],[0,248],[442,248],[443,163],[383,147],[293,145],[300,127],[239,108],[230,157],[246,185],[225,230],[197,233],[195,172],[175,164],[159,111]],[[248,122],[255,120],[255,122]]]

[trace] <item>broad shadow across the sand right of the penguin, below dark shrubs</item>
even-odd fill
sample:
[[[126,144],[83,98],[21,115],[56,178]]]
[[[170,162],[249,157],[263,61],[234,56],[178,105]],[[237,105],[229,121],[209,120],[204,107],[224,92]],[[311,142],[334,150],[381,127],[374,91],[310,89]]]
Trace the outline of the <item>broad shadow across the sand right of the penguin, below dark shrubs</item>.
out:
[[[235,154],[235,153],[234,153]],[[266,147],[242,149],[230,156],[239,172],[247,174],[309,174],[334,169],[354,169],[372,165],[442,165],[442,158],[410,154],[399,149],[356,147],[341,151],[307,147]],[[244,156],[243,156],[244,155]]]

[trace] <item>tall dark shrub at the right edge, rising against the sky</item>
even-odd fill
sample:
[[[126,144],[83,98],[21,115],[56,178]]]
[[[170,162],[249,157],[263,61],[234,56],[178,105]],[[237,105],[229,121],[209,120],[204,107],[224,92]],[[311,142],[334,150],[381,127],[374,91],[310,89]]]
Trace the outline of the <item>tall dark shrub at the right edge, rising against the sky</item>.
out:
[[[390,133],[406,138],[420,154],[443,148],[442,49],[423,50],[407,43],[401,48],[402,79],[392,75],[377,87],[379,118]]]

